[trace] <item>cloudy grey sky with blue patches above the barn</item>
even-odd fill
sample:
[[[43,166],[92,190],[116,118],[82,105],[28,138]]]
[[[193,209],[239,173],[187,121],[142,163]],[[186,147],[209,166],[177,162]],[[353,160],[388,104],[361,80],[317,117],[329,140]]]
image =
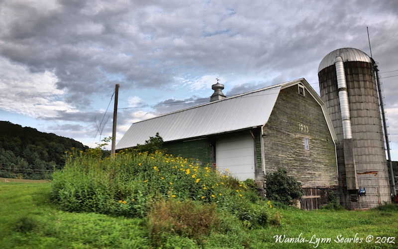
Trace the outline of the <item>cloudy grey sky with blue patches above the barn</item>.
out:
[[[0,0],[0,120],[95,147],[115,84],[117,140],[207,102],[217,77],[227,96],[299,78],[319,93],[326,54],[370,55],[367,27],[398,160],[397,0]]]

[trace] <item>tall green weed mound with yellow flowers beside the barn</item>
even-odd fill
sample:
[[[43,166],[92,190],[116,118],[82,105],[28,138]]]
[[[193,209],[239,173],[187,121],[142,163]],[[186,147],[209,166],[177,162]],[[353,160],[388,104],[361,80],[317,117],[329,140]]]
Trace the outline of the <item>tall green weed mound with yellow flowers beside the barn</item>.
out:
[[[244,182],[196,160],[156,151],[121,151],[114,158],[98,153],[67,153],[66,166],[53,175],[51,196],[65,211],[145,217],[157,200],[195,200],[228,206],[244,199]]]

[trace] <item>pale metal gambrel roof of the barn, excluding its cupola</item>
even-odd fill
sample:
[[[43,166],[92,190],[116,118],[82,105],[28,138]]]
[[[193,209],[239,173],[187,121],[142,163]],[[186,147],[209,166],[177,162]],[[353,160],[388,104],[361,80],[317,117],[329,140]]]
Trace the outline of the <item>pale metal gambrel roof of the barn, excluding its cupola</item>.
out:
[[[281,89],[297,84],[304,86],[322,107],[333,140],[337,141],[325,104],[301,78],[134,123],[117,143],[116,149],[143,144],[156,132],[167,142],[265,125]]]

